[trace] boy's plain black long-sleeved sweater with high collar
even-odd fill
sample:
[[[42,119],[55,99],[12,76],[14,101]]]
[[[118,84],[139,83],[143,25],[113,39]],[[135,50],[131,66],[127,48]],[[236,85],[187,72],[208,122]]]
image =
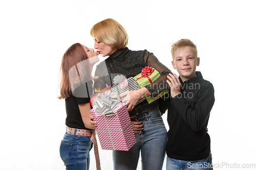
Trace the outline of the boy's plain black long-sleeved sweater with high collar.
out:
[[[181,94],[168,105],[168,142],[166,154],[178,160],[205,159],[210,153],[207,125],[215,102],[214,87],[203,79],[201,72],[182,83]]]

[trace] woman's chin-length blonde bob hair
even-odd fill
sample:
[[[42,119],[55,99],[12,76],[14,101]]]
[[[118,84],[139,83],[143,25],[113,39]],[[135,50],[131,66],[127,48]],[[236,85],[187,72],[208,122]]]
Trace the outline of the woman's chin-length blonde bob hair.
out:
[[[120,23],[112,18],[96,23],[90,33],[96,41],[104,42],[117,50],[125,48],[129,39]]]

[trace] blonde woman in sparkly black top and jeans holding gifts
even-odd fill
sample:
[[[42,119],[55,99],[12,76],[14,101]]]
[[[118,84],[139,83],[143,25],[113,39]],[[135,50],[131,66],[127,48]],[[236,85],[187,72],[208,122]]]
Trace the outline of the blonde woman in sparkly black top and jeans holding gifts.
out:
[[[146,101],[136,103],[144,96],[151,94],[155,97],[167,88],[167,75],[171,72],[158,61],[153,53],[147,50],[131,51],[126,47],[128,36],[125,29],[116,20],[109,18],[96,23],[91,29],[95,39],[94,48],[106,60],[97,65],[95,88],[113,86],[116,76],[126,78],[140,74],[145,66],[157,69],[161,76],[152,84],[139,90],[123,93],[123,103],[128,111],[135,112],[132,125],[137,143],[129,151],[113,151],[114,169],[132,170],[137,168],[141,153],[142,169],[162,169],[167,142],[167,132],[158,108],[157,102],[148,104]],[[96,122],[91,123],[97,126]]]

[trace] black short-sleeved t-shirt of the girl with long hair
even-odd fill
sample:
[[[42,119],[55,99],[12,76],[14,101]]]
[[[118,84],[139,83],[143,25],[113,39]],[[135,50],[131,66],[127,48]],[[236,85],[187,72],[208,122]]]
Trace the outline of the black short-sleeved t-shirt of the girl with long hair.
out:
[[[84,127],[78,105],[90,103],[90,96],[93,92],[90,84],[91,82],[87,82],[79,85],[75,88],[74,93],[70,94],[65,100],[67,112],[66,125],[70,128],[88,129]]]

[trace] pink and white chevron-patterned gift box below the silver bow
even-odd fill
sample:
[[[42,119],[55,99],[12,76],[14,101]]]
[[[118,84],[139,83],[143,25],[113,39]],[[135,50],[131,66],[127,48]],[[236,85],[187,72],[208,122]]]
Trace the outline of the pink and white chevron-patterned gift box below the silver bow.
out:
[[[120,103],[113,110],[115,114],[101,115],[91,109],[94,121],[97,122],[96,132],[102,149],[129,151],[136,143],[131,119],[125,103]]]

